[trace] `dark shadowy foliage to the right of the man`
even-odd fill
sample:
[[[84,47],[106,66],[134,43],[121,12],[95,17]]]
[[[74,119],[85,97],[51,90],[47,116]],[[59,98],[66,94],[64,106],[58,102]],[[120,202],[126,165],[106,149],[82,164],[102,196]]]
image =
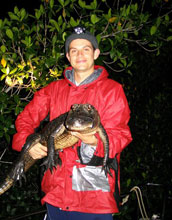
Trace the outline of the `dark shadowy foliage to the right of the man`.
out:
[[[162,214],[165,204],[164,219],[172,216],[172,176],[168,173],[172,168],[171,48],[171,43],[164,45],[158,57],[139,52],[137,63],[140,65],[133,67],[139,74],[122,80],[131,106],[133,142],[121,155],[121,190],[125,194],[133,186],[140,186],[149,216]],[[131,197],[132,205],[124,206],[124,211],[130,214],[136,211],[135,200],[135,196]]]

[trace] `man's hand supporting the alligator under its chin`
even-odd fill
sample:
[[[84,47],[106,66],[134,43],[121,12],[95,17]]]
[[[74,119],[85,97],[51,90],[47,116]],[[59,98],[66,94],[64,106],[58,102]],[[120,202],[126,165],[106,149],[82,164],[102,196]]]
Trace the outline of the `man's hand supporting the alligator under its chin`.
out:
[[[95,136],[95,133],[96,133],[95,131],[90,132],[88,134],[81,134],[79,132],[71,132],[72,135],[79,138],[85,144],[89,144],[89,145],[93,145],[93,146],[97,145],[97,138]]]

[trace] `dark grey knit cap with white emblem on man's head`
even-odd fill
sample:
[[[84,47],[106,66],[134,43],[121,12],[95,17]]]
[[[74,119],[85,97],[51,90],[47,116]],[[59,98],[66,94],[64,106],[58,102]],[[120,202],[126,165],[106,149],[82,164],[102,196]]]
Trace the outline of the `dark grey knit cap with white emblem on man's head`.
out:
[[[94,49],[99,48],[96,37],[91,34],[89,31],[86,31],[84,27],[75,27],[71,35],[69,35],[65,42],[65,52],[69,52],[69,45],[73,40],[76,39],[85,39],[91,42]]]

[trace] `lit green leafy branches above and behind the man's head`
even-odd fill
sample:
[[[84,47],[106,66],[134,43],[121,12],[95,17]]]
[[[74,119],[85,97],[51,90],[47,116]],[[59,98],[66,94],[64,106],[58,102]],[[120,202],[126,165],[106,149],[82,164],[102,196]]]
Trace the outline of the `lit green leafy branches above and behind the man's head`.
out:
[[[65,67],[64,41],[76,25],[96,35],[102,51],[99,62],[120,72],[131,73],[134,51],[130,44],[158,54],[163,40],[172,38],[164,33],[170,24],[168,12],[153,18],[144,12],[144,4],[121,0],[120,4],[111,2],[111,8],[104,0],[41,2],[34,15],[16,6],[9,18],[0,19],[0,79],[11,90],[34,91],[58,79]]]

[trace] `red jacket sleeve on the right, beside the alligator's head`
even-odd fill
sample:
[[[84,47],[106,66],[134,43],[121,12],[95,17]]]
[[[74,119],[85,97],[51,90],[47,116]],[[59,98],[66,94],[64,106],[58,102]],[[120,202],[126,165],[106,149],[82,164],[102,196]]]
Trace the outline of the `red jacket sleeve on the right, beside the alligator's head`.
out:
[[[115,89],[105,93],[104,107],[100,112],[101,122],[109,137],[109,157],[114,158],[117,153],[132,141],[128,122],[130,119],[130,109],[123,88],[120,84]],[[96,154],[102,156],[104,153],[103,144],[98,138]]]

